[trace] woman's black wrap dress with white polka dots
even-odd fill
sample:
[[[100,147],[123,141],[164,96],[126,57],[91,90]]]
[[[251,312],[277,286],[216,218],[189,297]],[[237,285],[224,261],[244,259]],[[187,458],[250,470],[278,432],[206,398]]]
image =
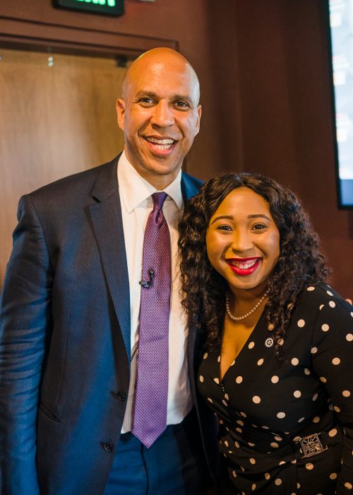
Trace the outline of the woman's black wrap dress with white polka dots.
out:
[[[220,419],[232,491],[353,495],[352,306],[309,287],[282,349],[280,364],[262,315],[222,382],[220,351],[201,360],[198,389]]]

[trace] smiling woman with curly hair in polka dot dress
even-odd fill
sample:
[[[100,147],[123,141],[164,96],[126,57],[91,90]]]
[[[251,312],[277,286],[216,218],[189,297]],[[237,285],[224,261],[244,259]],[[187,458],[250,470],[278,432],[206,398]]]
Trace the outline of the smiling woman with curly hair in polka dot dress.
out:
[[[301,204],[266,177],[220,175],[191,200],[179,232],[184,307],[204,347],[198,390],[220,420],[225,493],[349,493],[353,313],[326,283]]]

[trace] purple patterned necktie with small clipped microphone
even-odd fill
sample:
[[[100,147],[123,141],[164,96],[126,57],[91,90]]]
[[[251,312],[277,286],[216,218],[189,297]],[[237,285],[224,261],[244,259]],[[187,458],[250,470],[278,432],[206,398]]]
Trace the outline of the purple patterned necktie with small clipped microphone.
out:
[[[162,207],[165,192],[152,194],[143,240],[138,332],[138,371],[133,434],[148,448],[167,426],[170,236]]]

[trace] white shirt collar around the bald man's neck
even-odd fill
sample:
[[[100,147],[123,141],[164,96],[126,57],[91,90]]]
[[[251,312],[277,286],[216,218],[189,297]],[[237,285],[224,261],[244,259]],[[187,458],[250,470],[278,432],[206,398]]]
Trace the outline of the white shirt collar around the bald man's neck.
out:
[[[145,180],[136,172],[133,165],[128,161],[125,151],[121,153],[118,163],[118,184],[119,194],[121,195],[126,210],[131,213],[136,206],[141,204],[145,199],[151,196],[157,189],[150,182]],[[181,170],[177,177],[167,187],[162,190],[168,194],[179,210],[184,207],[183,197],[181,195]],[[167,198],[168,199],[168,198]]]

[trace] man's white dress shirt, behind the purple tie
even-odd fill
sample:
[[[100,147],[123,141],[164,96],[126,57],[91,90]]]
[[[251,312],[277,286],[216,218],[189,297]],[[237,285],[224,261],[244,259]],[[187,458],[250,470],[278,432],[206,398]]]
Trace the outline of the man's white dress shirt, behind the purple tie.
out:
[[[152,211],[151,194],[155,187],[143,179],[121,154],[118,164],[118,182],[121,216],[124,228],[126,260],[130,289],[131,310],[131,377],[122,433],[132,429],[132,410],[136,388],[136,350],[138,349],[138,325],[140,315],[140,291],[143,236],[148,215]],[[178,223],[183,211],[181,196],[181,170],[174,181],[163,189],[168,194],[163,205],[163,214],[170,233],[172,259],[172,289],[169,315],[169,378],[167,424],[180,423],[191,409],[191,392],[186,359],[187,325],[179,297],[179,262],[177,256]]]

